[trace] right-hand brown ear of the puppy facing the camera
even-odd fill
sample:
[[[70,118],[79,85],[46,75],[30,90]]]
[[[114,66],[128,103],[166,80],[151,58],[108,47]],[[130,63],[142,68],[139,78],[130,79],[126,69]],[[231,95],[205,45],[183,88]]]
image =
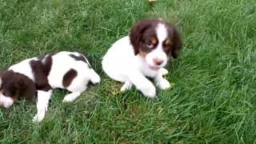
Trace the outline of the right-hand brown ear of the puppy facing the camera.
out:
[[[179,52],[182,49],[182,34],[175,26],[173,26],[173,38],[172,38],[173,47],[171,50],[171,56],[173,58],[178,58]]]

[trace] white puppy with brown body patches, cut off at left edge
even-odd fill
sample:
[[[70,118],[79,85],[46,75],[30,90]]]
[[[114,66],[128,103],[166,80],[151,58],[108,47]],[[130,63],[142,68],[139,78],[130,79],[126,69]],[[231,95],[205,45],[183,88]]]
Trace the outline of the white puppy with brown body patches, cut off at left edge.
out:
[[[34,122],[44,118],[52,90],[69,90],[63,102],[78,98],[89,82],[98,83],[100,77],[86,57],[77,52],[62,51],[42,58],[30,58],[0,72],[0,105],[10,107],[19,97],[37,97]]]

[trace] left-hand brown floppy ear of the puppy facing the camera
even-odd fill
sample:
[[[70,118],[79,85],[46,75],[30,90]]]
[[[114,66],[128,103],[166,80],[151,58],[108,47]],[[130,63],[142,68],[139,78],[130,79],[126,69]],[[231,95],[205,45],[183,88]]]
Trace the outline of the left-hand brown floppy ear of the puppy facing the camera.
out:
[[[151,20],[142,20],[131,27],[130,44],[134,47],[134,54],[139,53],[139,42],[141,41],[143,32],[152,24]]]

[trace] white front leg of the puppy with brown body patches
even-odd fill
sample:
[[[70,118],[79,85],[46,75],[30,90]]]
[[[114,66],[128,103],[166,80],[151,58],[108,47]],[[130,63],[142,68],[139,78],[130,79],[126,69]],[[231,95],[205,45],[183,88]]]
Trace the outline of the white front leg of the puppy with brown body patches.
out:
[[[49,91],[38,90],[38,102],[37,102],[38,113],[34,116],[33,122],[41,122],[42,119],[45,117],[46,111],[48,110],[48,102],[50,100],[51,94],[52,94],[52,90],[49,90]]]

